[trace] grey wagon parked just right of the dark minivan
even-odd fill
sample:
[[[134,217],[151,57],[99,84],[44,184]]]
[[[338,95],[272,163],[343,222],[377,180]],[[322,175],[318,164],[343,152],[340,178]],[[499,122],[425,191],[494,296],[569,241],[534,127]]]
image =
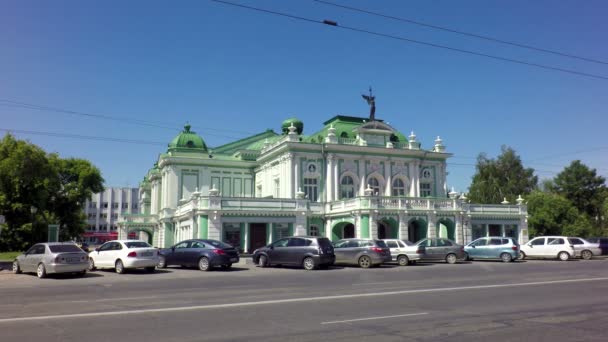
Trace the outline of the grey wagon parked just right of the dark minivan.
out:
[[[378,266],[391,261],[391,251],[382,240],[342,239],[334,242],[336,264]]]

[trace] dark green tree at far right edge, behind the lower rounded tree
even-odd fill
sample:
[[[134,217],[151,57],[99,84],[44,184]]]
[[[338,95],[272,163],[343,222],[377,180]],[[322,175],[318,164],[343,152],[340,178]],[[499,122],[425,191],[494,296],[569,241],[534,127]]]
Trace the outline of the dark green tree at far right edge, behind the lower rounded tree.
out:
[[[590,219],[601,220],[602,205],[606,198],[606,179],[598,176],[595,169],[590,169],[580,160],[570,163],[555,177],[552,191],[567,198]]]

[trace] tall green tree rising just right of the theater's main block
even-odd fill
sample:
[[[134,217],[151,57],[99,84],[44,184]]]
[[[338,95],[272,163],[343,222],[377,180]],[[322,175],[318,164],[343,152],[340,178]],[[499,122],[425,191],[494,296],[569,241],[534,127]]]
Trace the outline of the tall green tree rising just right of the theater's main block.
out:
[[[534,169],[524,168],[515,151],[503,146],[496,159],[489,159],[483,153],[477,158],[469,198],[475,203],[497,204],[504,198],[514,203],[517,196],[529,194],[537,183]]]

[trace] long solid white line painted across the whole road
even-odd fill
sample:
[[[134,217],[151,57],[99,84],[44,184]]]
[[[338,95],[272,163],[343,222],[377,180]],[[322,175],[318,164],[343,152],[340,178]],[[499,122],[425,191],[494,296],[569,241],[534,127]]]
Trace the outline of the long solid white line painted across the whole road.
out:
[[[314,302],[314,301],[350,299],[350,298],[361,298],[361,297],[380,297],[380,296],[417,294],[417,293],[466,291],[466,290],[495,289],[495,288],[508,288],[508,287],[523,287],[523,286],[537,286],[537,285],[550,285],[550,284],[583,283],[583,282],[605,281],[605,280],[608,280],[608,277],[549,280],[549,281],[536,281],[536,282],[514,283],[514,284],[494,284],[494,285],[476,285],[476,286],[461,286],[461,287],[442,287],[442,288],[434,288],[434,289],[402,290],[402,291],[374,292],[374,293],[357,293],[357,294],[349,294],[349,295],[335,295],[335,296],[322,296],[322,297],[304,297],[304,298],[276,299],[276,300],[264,300],[264,301],[257,301],[257,302],[241,302],[241,303],[227,303],[227,304],[196,305],[196,306],[182,306],[182,307],[158,308],[158,309],[140,309],[140,310],[123,310],[123,311],[107,311],[107,312],[89,312],[89,313],[80,313],[80,314],[52,315],[52,316],[14,317],[14,318],[2,318],[2,319],[0,319],[0,324],[1,323],[11,323],[11,322],[24,322],[24,321],[41,321],[41,320],[52,320],[52,319],[65,319],[65,318],[85,318],[85,317],[99,318],[99,317],[102,317],[102,316],[119,316],[119,315],[134,315],[134,314],[147,314],[147,313],[160,313],[160,312],[176,312],[176,311],[193,311],[193,310],[209,310],[209,309],[226,309],[226,308],[238,308],[238,307],[243,307],[243,306],[256,306],[256,305],[273,305],[273,304],[283,304],[283,303]]]

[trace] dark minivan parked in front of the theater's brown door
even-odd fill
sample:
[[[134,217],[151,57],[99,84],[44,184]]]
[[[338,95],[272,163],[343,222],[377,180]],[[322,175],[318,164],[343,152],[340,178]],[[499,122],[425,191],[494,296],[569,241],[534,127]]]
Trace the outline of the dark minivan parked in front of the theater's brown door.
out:
[[[328,238],[292,236],[277,240],[253,252],[253,262],[260,267],[270,265],[298,265],[314,270],[333,265],[334,247]]]

